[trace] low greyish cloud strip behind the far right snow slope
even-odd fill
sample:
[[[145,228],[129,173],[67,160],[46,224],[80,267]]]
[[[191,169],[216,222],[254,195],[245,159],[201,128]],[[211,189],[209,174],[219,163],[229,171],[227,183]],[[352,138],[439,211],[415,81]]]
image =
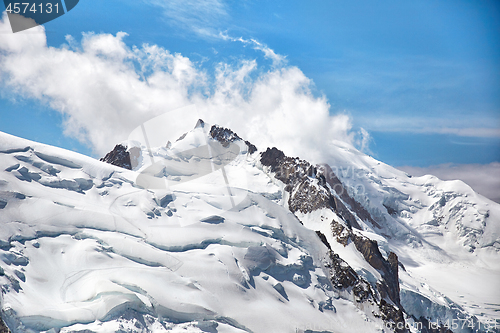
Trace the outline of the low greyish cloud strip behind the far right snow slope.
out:
[[[443,180],[459,179],[476,192],[500,203],[500,163],[490,164],[440,164],[426,168],[398,167],[410,175],[434,175]]]

